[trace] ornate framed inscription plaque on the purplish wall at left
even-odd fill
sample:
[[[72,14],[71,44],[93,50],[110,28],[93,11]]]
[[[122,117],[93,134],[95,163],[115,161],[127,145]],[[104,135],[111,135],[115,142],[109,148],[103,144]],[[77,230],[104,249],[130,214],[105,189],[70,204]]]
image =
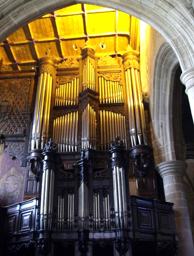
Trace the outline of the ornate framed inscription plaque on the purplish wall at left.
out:
[[[0,179],[1,199],[15,201],[21,191],[23,176],[13,167]]]

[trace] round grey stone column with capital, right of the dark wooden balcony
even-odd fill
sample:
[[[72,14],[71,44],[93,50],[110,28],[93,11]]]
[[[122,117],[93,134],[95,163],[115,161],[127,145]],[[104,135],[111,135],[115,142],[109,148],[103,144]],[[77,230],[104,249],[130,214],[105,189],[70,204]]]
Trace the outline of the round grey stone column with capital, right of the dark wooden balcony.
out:
[[[175,222],[178,232],[178,256],[194,255],[192,232],[189,220],[187,198],[183,176],[187,164],[174,160],[158,164],[156,169],[163,179],[165,198],[174,203]]]

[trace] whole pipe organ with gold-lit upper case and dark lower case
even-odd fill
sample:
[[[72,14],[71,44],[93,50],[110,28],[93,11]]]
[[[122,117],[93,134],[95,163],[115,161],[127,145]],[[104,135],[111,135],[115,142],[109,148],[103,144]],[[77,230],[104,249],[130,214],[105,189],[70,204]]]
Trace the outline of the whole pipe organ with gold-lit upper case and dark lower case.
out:
[[[44,149],[43,170],[39,164],[40,171],[34,172],[40,173],[41,182],[38,239],[51,240],[49,230],[56,239],[66,237],[67,243],[72,237],[82,256],[92,251],[89,241],[108,237],[125,255],[131,247],[129,177],[137,179],[142,191],[155,179],[147,161],[152,153],[139,53],[128,47],[122,59],[118,63],[110,56],[98,57],[87,44],[80,57],[64,65],[57,66],[48,55],[40,61],[29,152],[34,164],[41,162]],[[156,188],[150,191],[145,195],[155,197]]]

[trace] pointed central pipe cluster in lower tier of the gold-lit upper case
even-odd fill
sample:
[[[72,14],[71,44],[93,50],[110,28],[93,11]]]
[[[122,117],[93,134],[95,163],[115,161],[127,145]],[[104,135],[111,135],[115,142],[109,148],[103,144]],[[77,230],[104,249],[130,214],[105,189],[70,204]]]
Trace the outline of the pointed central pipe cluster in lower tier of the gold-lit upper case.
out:
[[[82,112],[82,149],[96,148],[96,112],[88,103]]]

